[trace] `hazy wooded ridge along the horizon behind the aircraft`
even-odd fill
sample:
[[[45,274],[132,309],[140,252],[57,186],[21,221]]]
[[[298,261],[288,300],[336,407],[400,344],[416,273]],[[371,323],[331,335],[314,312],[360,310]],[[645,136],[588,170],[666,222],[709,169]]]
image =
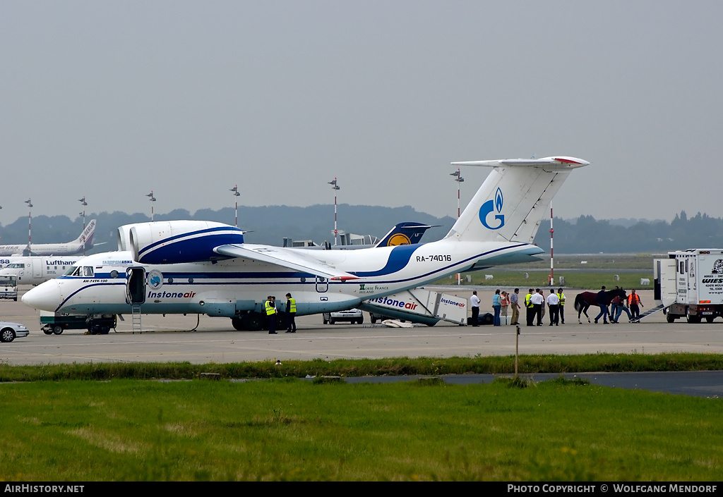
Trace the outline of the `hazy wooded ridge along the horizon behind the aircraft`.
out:
[[[210,220],[234,224],[234,209],[200,209],[191,214],[176,209],[154,216],[154,220]],[[86,221],[97,219],[95,243],[104,243],[93,251],[116,250],[119,226],[132,222],[150,221],[141,213],[100,212],[87,215]],[[27,217],[20,217],[8,225],[0,225],[0,244],[27,242]],[[443,238],[455,222],[453,217],[435,217],[418,212],[412,207],[377,207],[368,205],[338,206],[338,229],[359,235],[382,238],[393,225],[403,221],[439,225],[427,231],[422,242]],[[671,222],[664,220],[596,220],[581,215],[577,219],[555,217],[555,252],[558,254],[605,253],[664,253],[685,248],[723,247],[723,218],[710,217],[698,212],[688,217],[680,212]],[[32,222],[33,243],[60,243],[72,241],[82,230],[82,218],[67,216],[37,216]],[[310,207],[264,206],[239,207],[239,228],[246,230],[246,241],[281,246],[283,238],[333,243],[334,217],[329,205]],[[542,222],[534,243],[549,251],[549,222]]]

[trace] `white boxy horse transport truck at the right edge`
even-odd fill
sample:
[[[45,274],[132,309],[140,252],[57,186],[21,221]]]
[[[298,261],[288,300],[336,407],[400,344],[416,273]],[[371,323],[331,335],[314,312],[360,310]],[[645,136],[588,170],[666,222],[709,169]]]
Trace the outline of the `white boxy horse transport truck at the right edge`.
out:
[[[711,323],[723,316],[723,249],[689,248],[653,260],[654,298],[669,323]]]

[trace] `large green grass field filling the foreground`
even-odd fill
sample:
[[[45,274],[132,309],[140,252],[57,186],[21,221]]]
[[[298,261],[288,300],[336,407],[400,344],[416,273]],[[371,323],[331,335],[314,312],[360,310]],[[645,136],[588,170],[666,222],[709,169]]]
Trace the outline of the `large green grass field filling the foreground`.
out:
[[[721,400],[565,380],[0,388],[2,480],[703,481],[723,469]]]

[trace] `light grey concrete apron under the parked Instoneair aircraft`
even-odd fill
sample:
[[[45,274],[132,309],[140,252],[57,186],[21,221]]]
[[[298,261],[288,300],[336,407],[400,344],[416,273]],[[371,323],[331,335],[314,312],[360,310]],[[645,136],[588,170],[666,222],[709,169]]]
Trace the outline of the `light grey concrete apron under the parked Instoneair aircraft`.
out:
[[[445,289],[447,293],[469,297],[471,288],[461,291]],[[479,289],[482,312],[492,302],[494,290]],[[568,301],[573,301],[578,290],[566,291]],[[22,294],[22,290],[21,290]],[[654,306],[652,292],[640,293],[643,304]],[[593,311],[594,314],[593,314]],[[571,305],[566,306],[566,324],[550,327],[525,327],[520,329],[519,353],[521,354],[583,354],[583,353],[663,353],[696,352],[723,353],[723,321],[712,324],[688,324],[678,320],[669,324],[662,313],[653,314],[638,324],[578,324],[577,313]],[[591,317],[596,308],[589,311]],[[515,327],[460,327],[455,324],[438,323],[435,327],[388,328],[370,324],[364,313],[365,323],[322,324],[321,316],[301,316],[296,319],[296,334],[278,335],[267,332],[237,332],[231,320],[200,316],[142,316],[141,334],[133,334],[130,316],[119,321],[116,332],[108,335],[87,335],[83,330],[67,330],[61,335],[40,332],[40,322],[35,310],[21,302],[0,301],[1,319],[18,321],[30,329],[30,335],[12,343],[0,344],[0,361],[11,365],[38,365],[52,363],[95,362],[175,362],[191,363],[241,362],[263,360],[310,360],[314,358],[385,358],[385,357],[449,357],[475,355],[513,355],[515,353]],[[548,316],[545,316],[546,318]],[[584,318],[583,318],[584,319]],[[195,331],[189,331],[195,328]],[[602,378],[613,378],[614,386],[622,379],[595,373]],[[652,378],[646,373],[646,378]],[[661,374],[661,373],[657,373]],[[703,394],[723,394],[723,374],[703,381]],[[690,376],[690,375],[689,375]],[[665,376],[663,376],[665,377]],[[659,381],[675,393],[680,389],[695,389],[690,379],[673,380],[672,376]],[[471,377],[469,378],[471,379]],[[592,381],[592,380],[591,380]],[[605,380],[608,381],[608,380]],[[643,384],[642,377],[633,379],[633,388]],[[645,380],[649,384],[649,380]],[[677,385],[677,387],[675,387]],[[639,386],[656,389],[656,387]]]

